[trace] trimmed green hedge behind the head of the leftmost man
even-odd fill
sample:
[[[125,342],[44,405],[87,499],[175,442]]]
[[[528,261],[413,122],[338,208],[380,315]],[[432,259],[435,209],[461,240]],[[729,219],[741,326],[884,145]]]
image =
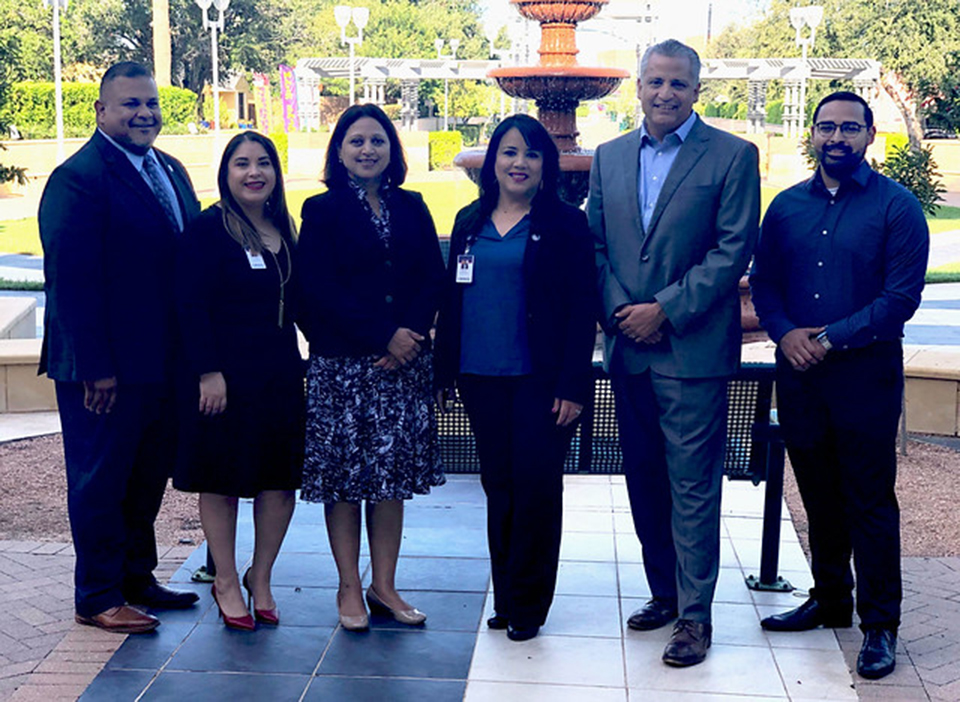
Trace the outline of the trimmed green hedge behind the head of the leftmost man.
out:
[[[163,130],[183,134],[197,121],[197,96],[183,88],[160,88]],[[99,94],[96,83],[63,84],[63,131],[66,137],[86,137],[96,127],[93,103]],[[24,81],[11,86],[0,107],[0,122],[16,125],[25,139],[52,139],[57,135],[53,83]]]

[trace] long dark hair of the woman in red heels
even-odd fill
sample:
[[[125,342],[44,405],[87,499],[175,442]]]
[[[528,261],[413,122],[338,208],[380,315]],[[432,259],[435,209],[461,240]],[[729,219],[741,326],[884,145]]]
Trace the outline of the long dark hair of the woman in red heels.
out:
[[[241,246],[259,253],[263,250],[263,241],[260,233],[253,223],[243,213],[243,208],[237,202],[233,193],[230,192],[230,184],[227,182],[227,176],[230,171],[230,159],[240,145],[252,141],[260,144],[270,164],[277,175],[276,185],[273,186],[273,193],[267,198],[264,204],[264,213],[267,218],[273,222],[274,226],[280,230],[281,234],[286,234],[293,238],[296,235],[296,227],[290,218],[290,212],[287,210],[287,198],[283,190],[283,171],[280,169],[280,155],[277,153],[277,147],[273,142],[253,131],[246,131],[237,134],[233,139],[227,142],[227,148],[223,150],[223,156],[220,158],[220,169],[217,171],[217,186],[220,189],[220,209],[223,210],[223,224],[232,236]]]

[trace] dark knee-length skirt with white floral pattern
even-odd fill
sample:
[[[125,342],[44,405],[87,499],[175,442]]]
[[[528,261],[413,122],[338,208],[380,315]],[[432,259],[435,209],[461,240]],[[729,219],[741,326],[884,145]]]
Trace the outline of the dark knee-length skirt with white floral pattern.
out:
[[[301,498],[408,500],[443,485],[429,352],[395,370],[377,356],[311,356]]]

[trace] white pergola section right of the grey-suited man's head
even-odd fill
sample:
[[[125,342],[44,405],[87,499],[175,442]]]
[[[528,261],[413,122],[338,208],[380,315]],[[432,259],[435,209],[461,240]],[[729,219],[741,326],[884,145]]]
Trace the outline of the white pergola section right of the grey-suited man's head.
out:
[[[700,80],[746,80],[747,123],[751,133],[762,132],[767,119],[767,84],[784,84],[783,124],[789,134],[800,124],[800,86],[804,80],[849,80],[867,102],[873,102],[880,82],[880,62],[871,59],[801,58],[705,59]]]

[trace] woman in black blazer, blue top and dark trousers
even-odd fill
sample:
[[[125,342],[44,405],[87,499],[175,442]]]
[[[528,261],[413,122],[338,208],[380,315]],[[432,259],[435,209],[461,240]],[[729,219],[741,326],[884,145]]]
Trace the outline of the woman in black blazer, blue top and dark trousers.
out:
[[[487,495],[492,629],[533,638],[556,585],[563,460],[593,390],[593,246],[583,212],[558,195],[543,125],[508,117],[457,215],[436,332],[441,402],[456,384]]]

